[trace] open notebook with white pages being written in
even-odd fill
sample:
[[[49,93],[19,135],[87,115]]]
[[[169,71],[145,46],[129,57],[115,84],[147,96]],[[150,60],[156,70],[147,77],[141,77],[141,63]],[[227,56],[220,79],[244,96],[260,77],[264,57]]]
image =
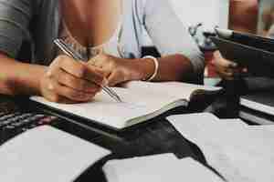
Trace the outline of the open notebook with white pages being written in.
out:
[[[113,87],[122,103],[101,92],[89,103],[65,105],[48,102],[41,96],[30,99],[58,111],[84,117],[114,129],[132,126],[178,106],[187,106],[201,90],[217,91],[219,87],[198,86],[178,82],[148,83],[132,81],[122,87]],[[200,93],[200,92],[199,92]]]

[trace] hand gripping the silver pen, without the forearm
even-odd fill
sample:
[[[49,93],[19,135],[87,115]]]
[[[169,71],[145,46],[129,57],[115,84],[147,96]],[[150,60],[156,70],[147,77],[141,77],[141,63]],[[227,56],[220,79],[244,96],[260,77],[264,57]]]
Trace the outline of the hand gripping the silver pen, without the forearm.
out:
[[[69,56],[58,56],[40,79],[40,93],[52,102],[87,102],[105,84],[97,67],[87,66]]]

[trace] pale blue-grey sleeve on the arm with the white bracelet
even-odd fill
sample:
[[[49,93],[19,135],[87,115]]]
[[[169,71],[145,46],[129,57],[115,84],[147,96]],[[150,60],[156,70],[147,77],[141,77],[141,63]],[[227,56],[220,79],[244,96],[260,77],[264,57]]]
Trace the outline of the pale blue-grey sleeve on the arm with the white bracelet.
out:
[[[143,24],[161,55],[182,54],[191,61],[196,74],[203,74],[204,55],[169,0],[143,0],[142,8]]]

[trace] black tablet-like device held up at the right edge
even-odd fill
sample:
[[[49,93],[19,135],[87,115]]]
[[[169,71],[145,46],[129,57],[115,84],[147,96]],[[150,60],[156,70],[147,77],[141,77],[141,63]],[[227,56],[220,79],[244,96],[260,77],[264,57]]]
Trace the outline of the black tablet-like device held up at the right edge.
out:
[[[238,66],[248,68],[252,76],[274,76],[274,40],[216,29],[218,36],[212,36],[222,56],[233,60]]]

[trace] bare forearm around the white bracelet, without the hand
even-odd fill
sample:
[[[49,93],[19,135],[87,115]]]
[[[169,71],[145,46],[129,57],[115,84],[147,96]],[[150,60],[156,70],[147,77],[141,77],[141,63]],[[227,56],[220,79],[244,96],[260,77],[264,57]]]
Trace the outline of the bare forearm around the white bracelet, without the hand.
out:
[[[144,79],[153,75],[154,64],[150,58],[140,61]],[[153,81],[189,81],[195,77],[194,68],[188,58],[182,55],[163,56],[158,58],[159,69]]]

